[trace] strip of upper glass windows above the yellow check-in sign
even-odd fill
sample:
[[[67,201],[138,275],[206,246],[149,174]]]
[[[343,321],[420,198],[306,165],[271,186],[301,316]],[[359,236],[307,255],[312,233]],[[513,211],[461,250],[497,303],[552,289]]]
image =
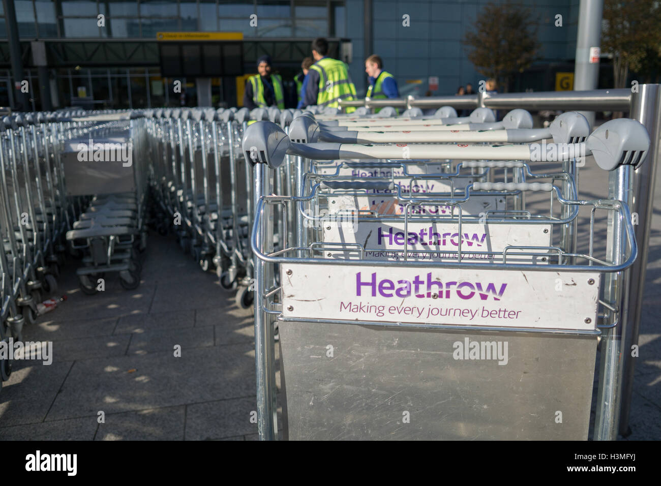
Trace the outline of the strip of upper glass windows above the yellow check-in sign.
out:
[[[1,5],[1,4],[0,4]],[[159,31],[245,37],[343,36],[338,0],[15,0],[20,38],[155,38]],[[98,15],[104,15],[99,26]],[[257,25],[251,26],[251,15]],[[0,9],[0,37],[7,37]]]

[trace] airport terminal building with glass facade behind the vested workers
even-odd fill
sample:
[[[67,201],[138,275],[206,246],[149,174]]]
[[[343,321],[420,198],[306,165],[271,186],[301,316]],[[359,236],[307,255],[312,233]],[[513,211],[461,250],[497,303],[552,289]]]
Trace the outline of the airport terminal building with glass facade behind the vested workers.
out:
[[[402,95],[451,95],[483,79],[461,39],[484,0],[3,0],[0,7],[0,105],[17,107],[15,83],[27,80],[28,109],[65,106],[147,108],[236,106],[255,61],[270,54],[284,79],[299,72],[310,42],[326,36],[350,65],[359,95],[364,60],[379,54]],[[555,89],[573,71],[578,0],[534,6],[541,60],[514,91]],[[22,78],[11,61],[15,12]],[[563,26],[555,26],[555,16]],[[407,19],[408,16],[408,19]],[[182,87],[175,90],[175,81]]]

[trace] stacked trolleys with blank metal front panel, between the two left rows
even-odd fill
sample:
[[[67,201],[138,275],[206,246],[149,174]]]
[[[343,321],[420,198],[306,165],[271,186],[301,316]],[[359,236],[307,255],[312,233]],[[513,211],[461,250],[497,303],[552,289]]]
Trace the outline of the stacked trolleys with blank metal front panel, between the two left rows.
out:
[[[145,212],[147,153],[141,113],[71,118],[93,122],[62,141],[60,156],[67,195],[83,198],[84,209],[66,238],[79,252],[80,288],[93,295],[105,289],[106,274],[116,272],[122,287],[140,284],[139,252],[147,245]]]

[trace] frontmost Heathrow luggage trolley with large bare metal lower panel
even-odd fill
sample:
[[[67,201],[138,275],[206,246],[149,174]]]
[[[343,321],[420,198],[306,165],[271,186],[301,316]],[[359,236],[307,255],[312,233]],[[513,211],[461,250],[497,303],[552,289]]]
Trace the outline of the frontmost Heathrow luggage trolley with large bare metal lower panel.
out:
[[[362,242],[332,247],[354,258],[325,257],[330,245],[323,242],[287,244],[274,252],[272,206],[298,210],[321,188],[320,182],[309,195],[270,196],[270,169],[280,167],[286,153],[366,159],[396,157],[397,148],[305,145],[290,142],[266,122],[249,127],[243,151],[255,162],[256,174],[252,247],[260,437],[277,432],[270,319],[278,319],[289,438],[586,438],[597,337],[602,331],[609,336],[626,317],[623,272],[637,255],[628,187],[631,165],[641,163],[649,144],[637,122],[613,122],[578,144],[612,171],[609,199],[570,200],[548,183],[473,182],[465,188],[463,199],[479,190],[545,190],[572,210],[590,208],[588,253],[506,242],[491,263],[367,260]],[[469,145],[463,153],[453,145],[413,145],[410,151],[419,159],[531,159],[527,145]],[[401,187],[397,195],[407,205],[426,202],[405,196]],[[597,210],[609,214],[603,256],[594,255],[592,245]],[[520,251],[533,258],[522,259]],[[551,253],[558,257],[534,258]],[[282,286],[276,288],[270,284],[273,264],[281,272]],[[498,354],[507,346],[508,357]],[[493,351],[502,359],[473,359],[476,347],[478,358]],[[611,380],[617,360],[608,358],[602,374],[610,379],[600,380],[600,429],[612,426],[608,408],[618,392],[617,380]]]

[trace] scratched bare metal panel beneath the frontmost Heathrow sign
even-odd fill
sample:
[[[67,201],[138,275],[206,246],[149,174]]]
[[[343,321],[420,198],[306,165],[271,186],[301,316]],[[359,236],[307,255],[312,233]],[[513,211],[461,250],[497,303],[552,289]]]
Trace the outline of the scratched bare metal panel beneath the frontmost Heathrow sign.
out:
[[[588,436],[594,337],[333,323],[279,327],[290,440]],[[469,347],[473,341],[507,342],[506,364],[455,359],[466,339]],[[504,344],[501,350],[504,356]]]

